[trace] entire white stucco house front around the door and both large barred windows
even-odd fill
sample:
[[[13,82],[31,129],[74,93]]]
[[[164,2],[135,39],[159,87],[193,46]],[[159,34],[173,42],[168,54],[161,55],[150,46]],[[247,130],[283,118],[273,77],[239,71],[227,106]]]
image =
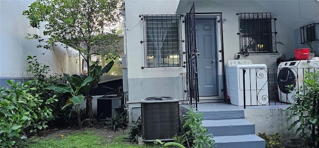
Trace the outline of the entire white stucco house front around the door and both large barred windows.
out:
[[[135,103],[139,106],[140,99],[166,94],[182,98],[182,90],[178,92],[181,85],[171,82],[171,77],[180,78],[180,73],[185,72],[182,67],[175,68],[145,68],[144,67],[144,44],[143,40],[143,21],[139,18],[142,14],[185,14],[189,11],[192,0],[125,0],[125,31],[126,31],[126,54],[128,59],[128,86],[129,104]],[[233,60],[239,50],[239,23],[236,13],[241,12],[272,12],[253,0],[194,0],[195,12],[222,12],[223,19],[223,45],[224,61]],[[279,53],[290,54],[291,49],[295,49],[295,32],[286,21],[281,19],[276,13],[272,13],[277,18],[276,31],[278,32],[277,41],[285,45],[277,46]],[[184,18],[182,18],[184,19]],[[221,49],[219,24],[217,26],[217,49]],[[182,38],[184,39],[184,23],[182,23]],[[182,44],[183,51],[185,44]],[[221,59],[221,53],[218,52]],[[254,64],[266,64],[268,68],[277,69],[276,60],[279,54],[250,54],[248,57],[241,55],[240,59],[249,59]],[[219,60],[220,60],[219,59]],[[184,60],[183,60],[184,61]],[[218,74],[222,78],[222,65],[219,64]],[[168,77],[168,78],[167,78]],[[151,78],[155,81],[149,81]],[[162,79],[161,79],[162,78]],[[220,80],[221,82],[221,80]],[[155,86],[156,85],[156,86]],[[155,87],[154,87],[155,86]],[[220,85],[222,88],[222,85]],[[176,89],[176,87],[178,89]],[[172,89],[174,88],[174,89]],[[159,93],[163,92],[163,93]],[[129,107],[130,110],[130,107]],[[131,113],[133,110],[130,111]],[[134,113],[133,113],[134,114]]]

